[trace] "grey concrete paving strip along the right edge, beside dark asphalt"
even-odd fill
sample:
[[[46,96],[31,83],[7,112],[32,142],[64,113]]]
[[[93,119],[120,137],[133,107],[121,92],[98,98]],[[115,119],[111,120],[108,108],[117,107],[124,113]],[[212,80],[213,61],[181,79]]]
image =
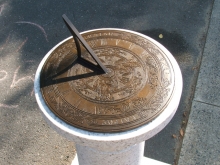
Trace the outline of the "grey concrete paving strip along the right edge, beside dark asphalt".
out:
[[[215,0],[179,165],[220,165],[219,9]]]

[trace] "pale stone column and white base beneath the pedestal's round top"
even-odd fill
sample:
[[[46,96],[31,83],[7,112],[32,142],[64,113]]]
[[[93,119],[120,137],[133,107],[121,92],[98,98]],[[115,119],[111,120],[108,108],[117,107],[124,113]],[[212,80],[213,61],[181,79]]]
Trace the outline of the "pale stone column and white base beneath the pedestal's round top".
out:
[[[145,142],[120,151],[97,150],[76,144],[77,154],[71,165],[168,165],[143,157]]]

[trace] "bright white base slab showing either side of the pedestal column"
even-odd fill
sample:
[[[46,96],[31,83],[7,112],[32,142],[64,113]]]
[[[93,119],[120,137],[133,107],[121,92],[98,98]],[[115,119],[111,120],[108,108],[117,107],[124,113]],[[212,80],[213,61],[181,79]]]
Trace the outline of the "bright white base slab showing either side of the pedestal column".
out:
[[[72,161],[71,165],[79,165],[77,154],[76,154],[74,160]],[[112,163],[112,165],[114,165],[114,164]],[[170,164],[163,163],[163,162],[160,162],[160,161],[157,161],[154,159],[150,159],[147,157],[143,157],[141,165],[170,165]]]

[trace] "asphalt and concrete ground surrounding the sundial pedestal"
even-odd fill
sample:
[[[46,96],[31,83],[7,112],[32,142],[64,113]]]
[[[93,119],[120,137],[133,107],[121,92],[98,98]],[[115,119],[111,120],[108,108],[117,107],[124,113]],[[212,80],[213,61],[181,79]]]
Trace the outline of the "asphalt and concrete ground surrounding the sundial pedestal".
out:
[[[0,0],[0,164],[66,165],[74,158],[73,142],[47,126],[33,93],[41,59],[70,36],[62,14],[80,32],[129,29],[170,50],[183,74],[182,99],[169,125],[146,142],[144,155],[169,164],[220,164],[219,3]]]

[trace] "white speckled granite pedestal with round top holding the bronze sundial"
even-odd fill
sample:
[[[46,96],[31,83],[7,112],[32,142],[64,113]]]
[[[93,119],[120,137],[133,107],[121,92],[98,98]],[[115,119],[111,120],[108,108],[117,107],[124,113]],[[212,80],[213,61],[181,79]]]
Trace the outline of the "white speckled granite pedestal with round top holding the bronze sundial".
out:
[[[68,40],[67,38],[66,40]],[[50,50],[41,61],[35,76],[35,96],[37,103],[48,124],[59,134],[72,140],[76,144],[78,161],[76,165],[146,165],[164,164],[143,157],[144,141],[160,132],[172,119],[179,105],[182,93],[182,75],[180,68],[167,49],[155,40],[148,38],[157,44],[169,58],[175,77],[175,89],[170,103],[165,110],[153,121],[138,128],[119,133],[95,133],[73,127],[60,118],[47,107],[40,90],[40,73],[51,52],[56,49],[62,41]],[[150,163],[152,162],[152,163]]]

